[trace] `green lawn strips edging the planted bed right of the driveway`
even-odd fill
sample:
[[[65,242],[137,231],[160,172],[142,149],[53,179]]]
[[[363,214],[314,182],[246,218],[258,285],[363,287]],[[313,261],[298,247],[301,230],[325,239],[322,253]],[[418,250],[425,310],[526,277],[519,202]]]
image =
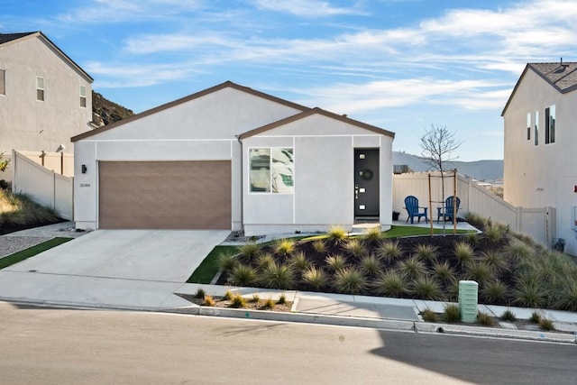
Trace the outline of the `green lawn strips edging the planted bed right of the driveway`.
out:
[[[434,229],[435,234],[443,234],[443,229]],[[472,230],[457,230],[458,234],[466,234],[466,233],[474,233]],[[391,226],[388,232],[382,234],[383,238],[397,238],[401,236],[416,236],[416,235],[428,235],[431,234],[431,229],[429,227],[417,227],[417,226]],[[453,234],[453,228],[445,229],[445,234]],[[323,239],[326,238],[327,235],[316,235],[312,237],[307,236],[297,236],[295,238],[290,238],[294,241],[299,240],[313,240],[313,239]],[[269,242],[269,243],[273,243]],[[269,243],[262,243],[262,245],[266,245]],[[216,246],[212,252],[210,252],[204,261],[200,263],[190,278],[188,278],[187,283],[202,283],[202,284],[209,284],[213,278],[215,278],[216,273],[218,272],[218,257],[221,254],[225,253],[234,253],[237,252],[236,246]]]

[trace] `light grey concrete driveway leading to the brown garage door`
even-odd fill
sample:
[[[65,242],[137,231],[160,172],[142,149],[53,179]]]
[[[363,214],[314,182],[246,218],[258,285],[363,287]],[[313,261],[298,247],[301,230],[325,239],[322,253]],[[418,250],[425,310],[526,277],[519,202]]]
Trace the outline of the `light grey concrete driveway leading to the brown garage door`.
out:
[[[124,308],[186,306],[172,293],[229,233],[97,230],[0,270],[0,298]]]

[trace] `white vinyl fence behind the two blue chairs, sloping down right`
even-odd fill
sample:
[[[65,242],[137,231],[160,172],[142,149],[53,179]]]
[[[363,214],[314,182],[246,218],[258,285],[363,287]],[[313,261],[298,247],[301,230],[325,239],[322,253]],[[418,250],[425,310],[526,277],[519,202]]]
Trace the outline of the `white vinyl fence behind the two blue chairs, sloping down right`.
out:
[[[431,174],[431,197],[429,197],[429,174]],[[437,220],[436,207],[443,206],[441,174],[435,172],[415,172],[393,175],[393,210],[400,213],[399,219],[406,220],[405,197],[418,198],[419,206],[429,207],[429,217]],[[444,198],[453,195],[453,172],[444,176]],[[551,246],[555,236],[554,207],[516,207],[502,198],[482,188],[472,179],[457,174],[456,195],[461,199],[457,215],[479,214],[494,222],[509,225],[511,230],[527,234],[536,242]]]

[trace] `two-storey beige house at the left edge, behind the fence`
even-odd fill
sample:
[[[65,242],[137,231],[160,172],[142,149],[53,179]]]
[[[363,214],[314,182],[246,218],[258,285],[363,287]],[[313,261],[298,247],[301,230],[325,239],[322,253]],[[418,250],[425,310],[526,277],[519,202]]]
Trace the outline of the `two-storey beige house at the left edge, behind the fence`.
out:
[[[71,153],[92,128],[92,82],[42,32],[0,33],[0,152]]]

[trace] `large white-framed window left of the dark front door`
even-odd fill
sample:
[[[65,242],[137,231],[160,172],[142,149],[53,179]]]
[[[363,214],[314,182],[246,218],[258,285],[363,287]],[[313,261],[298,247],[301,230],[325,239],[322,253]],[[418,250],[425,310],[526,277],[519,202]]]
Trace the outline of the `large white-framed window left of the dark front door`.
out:
[[[294,192],[293,149],[259,148],[249,151],[251,192]]]

